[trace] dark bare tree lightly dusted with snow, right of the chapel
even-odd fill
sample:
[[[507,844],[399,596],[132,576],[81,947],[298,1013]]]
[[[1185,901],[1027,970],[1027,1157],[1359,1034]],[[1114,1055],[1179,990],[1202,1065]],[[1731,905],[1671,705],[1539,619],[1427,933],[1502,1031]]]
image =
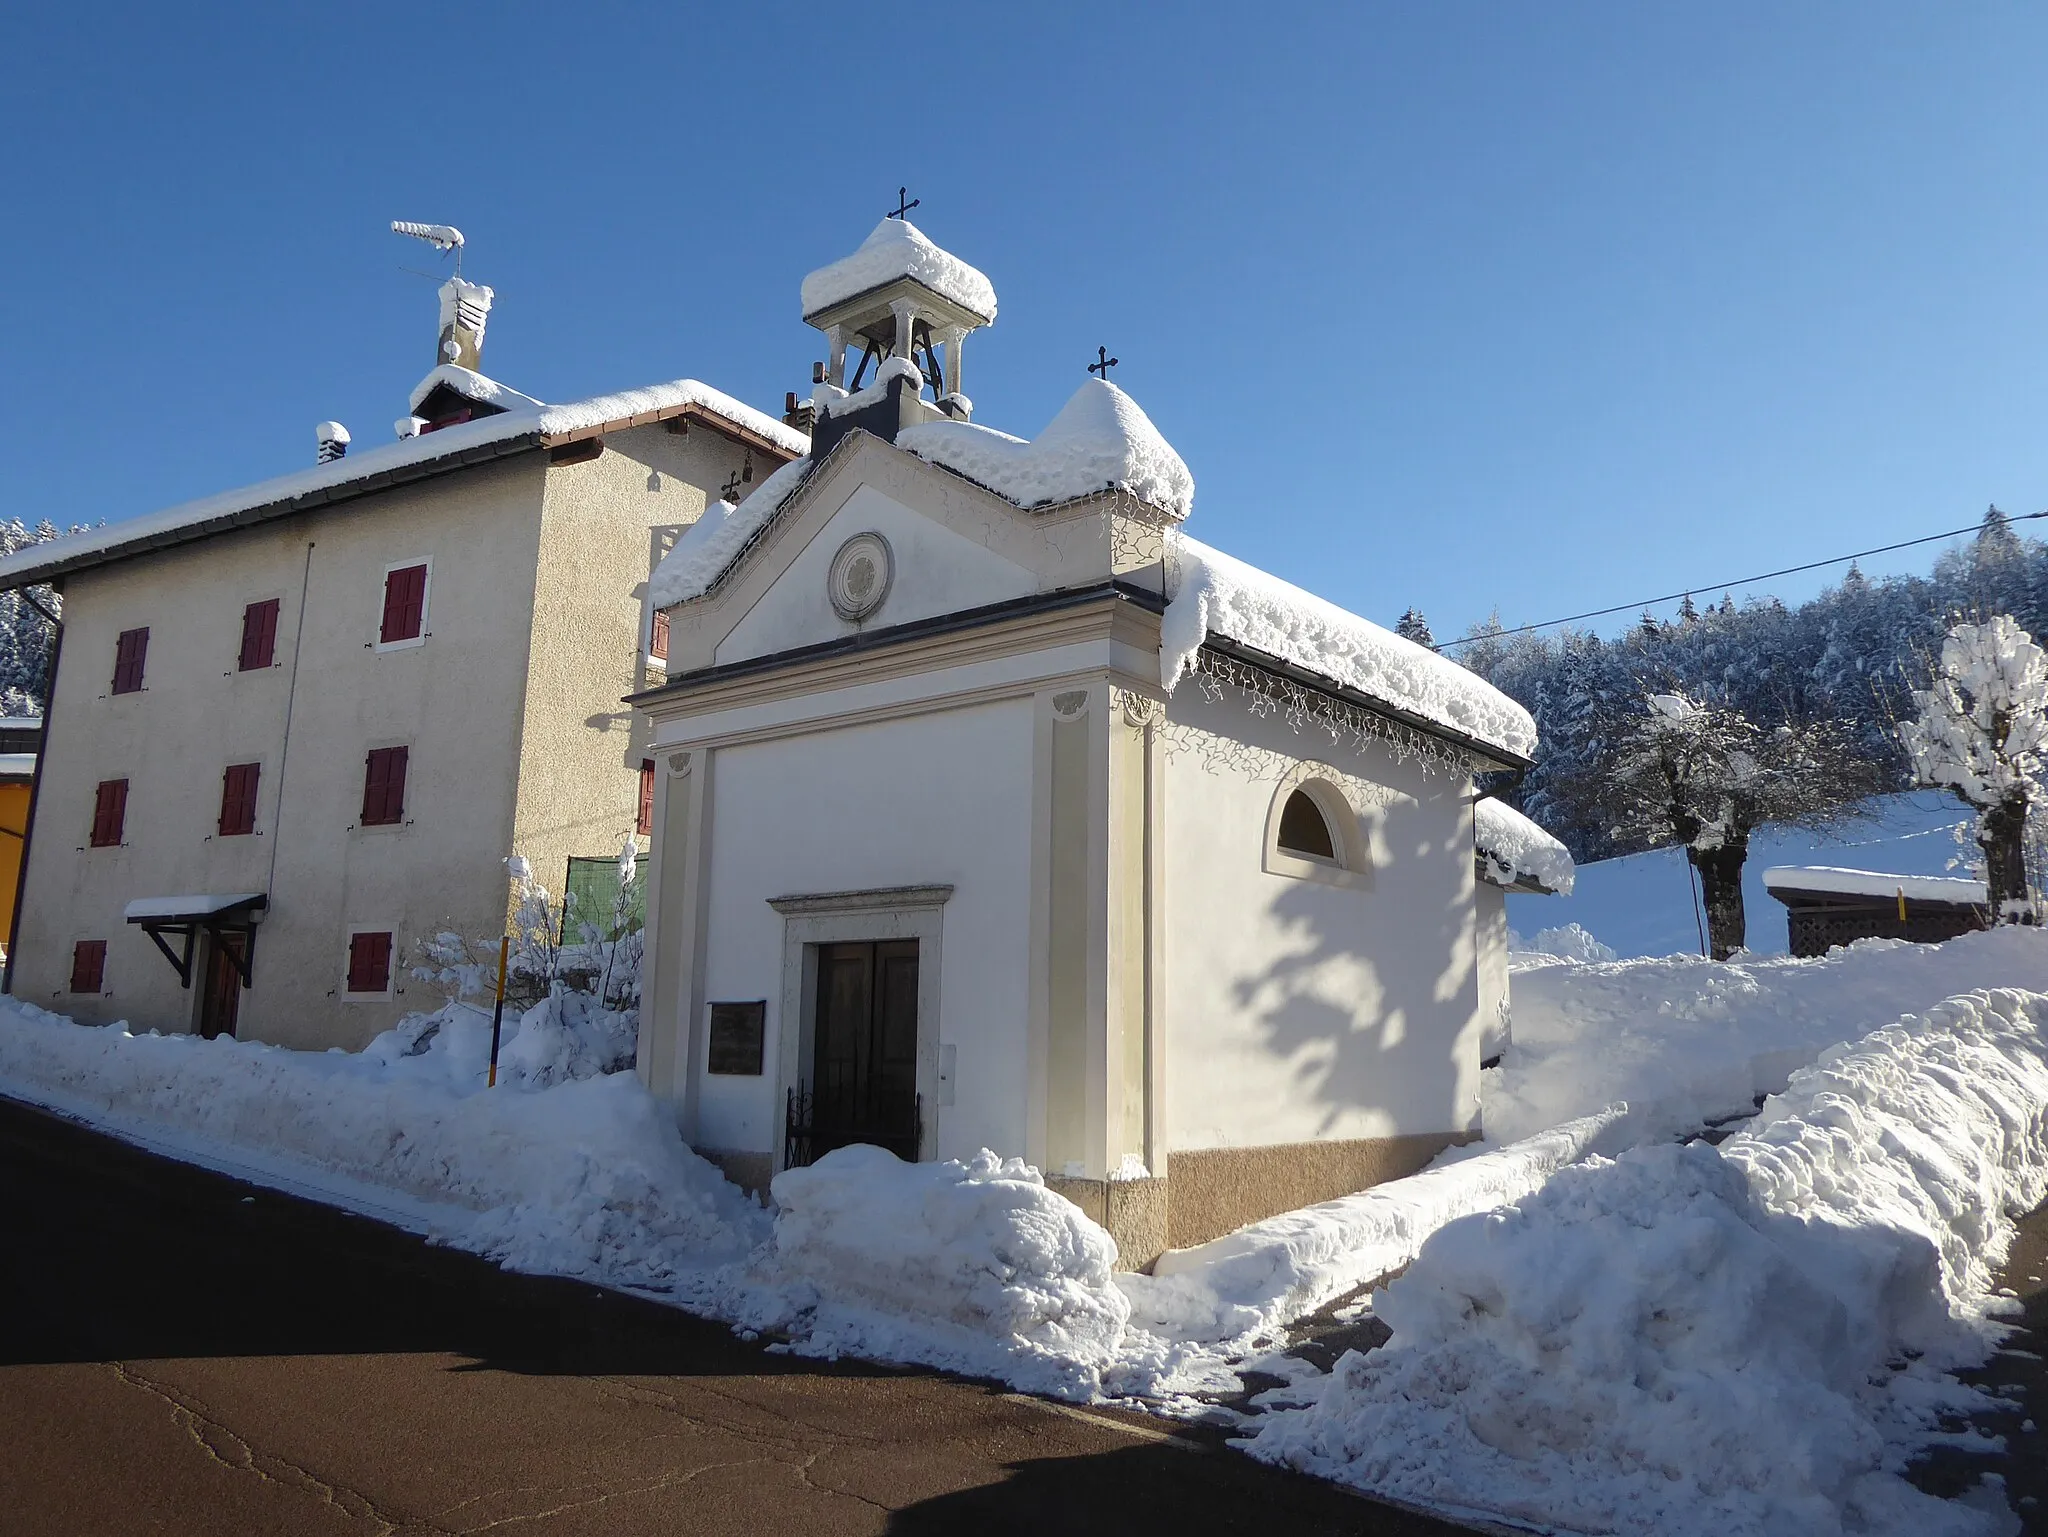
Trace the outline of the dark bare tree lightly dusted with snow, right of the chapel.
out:
[[[1708,947],[1743,949],[1743,863],[1765,822],[1829,826],[1884,789],[1884,773],[1833,721],[1759,725],[1681,693],[1651,695],[1595,764],[1616,838],[1681,844],[1700,873]]]

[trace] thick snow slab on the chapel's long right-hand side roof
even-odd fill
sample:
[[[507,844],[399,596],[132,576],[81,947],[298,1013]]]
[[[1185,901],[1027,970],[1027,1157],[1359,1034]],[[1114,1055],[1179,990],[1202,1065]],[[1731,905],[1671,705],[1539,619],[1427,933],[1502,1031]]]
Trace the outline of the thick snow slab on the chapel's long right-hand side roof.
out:
[[[1169,691],[1202,641],[1225,635],[1497,752],[1534,756],[1530,713],[1427,646],[1182,533],[1167,566],[1178,568],[1159,629],[1159,680]]]

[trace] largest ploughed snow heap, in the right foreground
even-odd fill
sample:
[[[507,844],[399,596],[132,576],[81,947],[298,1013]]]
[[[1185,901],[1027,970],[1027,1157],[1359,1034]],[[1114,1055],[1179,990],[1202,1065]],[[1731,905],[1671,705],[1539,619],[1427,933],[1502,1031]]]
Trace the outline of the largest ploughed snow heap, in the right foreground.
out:
[[[1249,1451],[1571,1531],[2009,1531],[1896,1476],[2011,1215],[2048,1195],[2048,996],[1952,998],[1800,1074],[1720,1150],[1559,1172],[1432,1238]],[[1946,1305],[1944,1305],[1946,1301]]]

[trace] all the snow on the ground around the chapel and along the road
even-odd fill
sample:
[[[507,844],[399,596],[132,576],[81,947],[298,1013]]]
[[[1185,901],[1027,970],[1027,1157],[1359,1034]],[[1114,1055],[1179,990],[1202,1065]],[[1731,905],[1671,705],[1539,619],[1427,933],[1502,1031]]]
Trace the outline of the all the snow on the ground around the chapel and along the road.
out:
[[[1995,992],[1987,992],[1995,990]],[[866,1148],[776,1178],[690,1152],[545,1010],[483,1086],[451,1006],[362,1053],[88,1029],[0,1000],[0,1090],[504,1264],[639,1289],[805,1355],[1200,1414],[1288,1379],[1241,1445],[1397,1498],[1573,1531],[1999,1531],[1896,1478],[1980,1359],[2011,1217],[2048,1197],[2048,934],[1823,961],[1522,957],[1489,1139],[1112,1271],[1038,1172]],[[1815,1066],[1819,1064],[1819,1066]],[[569,1074],[563,1078],[563,1074]],[[1702,1119],[1761,1115],[1720,1148]],[[1520,1137],[1520,1139],[1518,1139]],[[1319,1375],[1290,1322],[1395,1334]]]

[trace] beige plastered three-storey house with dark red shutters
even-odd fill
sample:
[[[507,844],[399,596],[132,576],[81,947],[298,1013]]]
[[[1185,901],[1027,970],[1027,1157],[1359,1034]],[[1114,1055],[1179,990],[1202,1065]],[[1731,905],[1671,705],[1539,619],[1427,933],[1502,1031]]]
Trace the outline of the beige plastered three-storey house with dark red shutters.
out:
[[[508,855],[559,889],[645,830],[647,576],[807,441],[690,379],[545,406],[477,373],[489,303],[442,289],[395,443],[0,562],[63,598],[16,996],[360,1047]]]

